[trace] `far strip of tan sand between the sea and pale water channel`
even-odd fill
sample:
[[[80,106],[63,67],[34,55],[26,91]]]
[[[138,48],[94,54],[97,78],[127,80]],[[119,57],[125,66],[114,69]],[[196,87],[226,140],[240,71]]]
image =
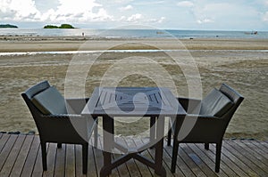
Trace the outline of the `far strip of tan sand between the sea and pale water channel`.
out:
[[[83,38],[81,36],[0,36],[0,52],[103,50],[268,50],[268,39]]]

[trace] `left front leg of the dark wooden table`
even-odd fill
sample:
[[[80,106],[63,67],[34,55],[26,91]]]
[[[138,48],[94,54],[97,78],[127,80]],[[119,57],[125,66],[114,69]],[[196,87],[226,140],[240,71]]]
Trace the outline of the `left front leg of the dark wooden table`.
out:
[[[104,126],[104,148],[103,148],[103,155],[104,155],[104,166],[100,171],[100,176],[105,177],[112,173],[112,169],[109,167],[112,164],[112,148],[113,148],[113,141],[114,141],[114,125],[113,125],[113,117],[103,117],[103,126]]]

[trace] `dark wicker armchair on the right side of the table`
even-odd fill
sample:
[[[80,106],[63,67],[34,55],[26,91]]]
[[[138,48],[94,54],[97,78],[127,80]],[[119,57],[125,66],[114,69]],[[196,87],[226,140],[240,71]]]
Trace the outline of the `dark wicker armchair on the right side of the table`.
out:
[[[175,173],[179,144],[205,143],[205,149],[209,149],[209,143],[216,144],[215,172],[220,172],[222,139],[229,125],[230,118],[244,100],[238,92],[227,84],[222,84],[220,90],[214,89],[202,101],[178,98],[181,106],[187,111],[184,119],[175,118],[170,121],[168,133],[168,146],[172,149],[172,173]],[[197,114],[198,113],[198,114]],[[191,130],[185,133],[184,120],[195,123]],[[185,127],[183,127],[185,126]]]

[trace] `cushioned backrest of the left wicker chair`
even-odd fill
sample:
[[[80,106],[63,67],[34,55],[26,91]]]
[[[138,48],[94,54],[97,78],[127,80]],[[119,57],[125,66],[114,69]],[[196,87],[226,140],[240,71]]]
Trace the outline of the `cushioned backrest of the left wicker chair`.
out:
[[[61,93],[47,81],[38,83],[30,87],[21,94],[27,102],[29,109],[36,107],[44,115],[66,114],[65,100]]]

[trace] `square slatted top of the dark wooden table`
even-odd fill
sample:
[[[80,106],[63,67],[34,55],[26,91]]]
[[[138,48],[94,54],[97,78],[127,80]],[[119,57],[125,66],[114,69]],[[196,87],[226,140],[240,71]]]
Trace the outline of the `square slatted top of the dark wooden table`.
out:
[[[185,115],[185,110],[168,88],[96,87],[82,115],[150,117]]]

